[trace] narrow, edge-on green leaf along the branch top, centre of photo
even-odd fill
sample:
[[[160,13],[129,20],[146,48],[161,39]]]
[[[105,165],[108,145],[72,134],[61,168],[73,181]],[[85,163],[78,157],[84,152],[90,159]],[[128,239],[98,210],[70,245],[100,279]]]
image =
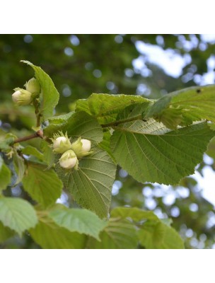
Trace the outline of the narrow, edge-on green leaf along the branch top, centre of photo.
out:
[[[90,115],[94,115],[100,124],[106,124],[115,121],[120,111],[134,103],[148,104],[151,103],[151,100],[141,96],[93,93],[88,99],[79,99],[77,101],[76,111],[85,111]]]

